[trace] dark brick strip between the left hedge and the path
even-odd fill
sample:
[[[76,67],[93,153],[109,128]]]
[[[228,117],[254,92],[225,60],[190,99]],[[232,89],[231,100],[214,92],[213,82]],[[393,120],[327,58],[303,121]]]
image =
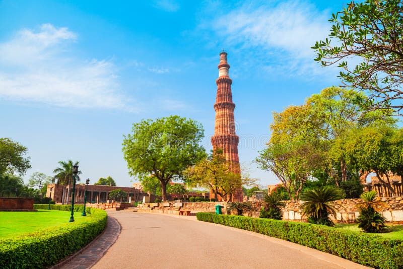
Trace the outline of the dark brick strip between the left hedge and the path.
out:
[[[91,241],[87,246],[80,249],[68,258],[63,259],[50,269],[84,269],[91,268],[115,243],[122,230],[120,223],[110,216],[106,223],[106,229]]]

